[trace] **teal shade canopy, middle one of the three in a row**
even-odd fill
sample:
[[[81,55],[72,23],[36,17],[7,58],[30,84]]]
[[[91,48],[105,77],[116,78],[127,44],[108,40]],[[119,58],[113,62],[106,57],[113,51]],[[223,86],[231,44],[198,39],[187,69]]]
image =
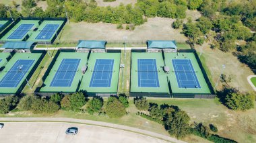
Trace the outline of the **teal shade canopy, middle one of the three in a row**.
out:
[[[106,41],[100,40],[79,40],[76,48],[106,48]]]

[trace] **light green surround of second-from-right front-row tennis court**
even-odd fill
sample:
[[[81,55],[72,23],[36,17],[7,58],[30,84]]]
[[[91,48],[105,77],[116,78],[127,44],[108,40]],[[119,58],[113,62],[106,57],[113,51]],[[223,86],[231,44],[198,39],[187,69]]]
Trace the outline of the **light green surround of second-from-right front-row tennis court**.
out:
[[[156,68],[159,70],[158,81],[159,87],[139,87],[139,72],[138,70],[138,59],[155,59]],[[164,66],[164,60],[162,53],[148,53],[148,52],[132,52],[131,53],[131,93],[169,93],[169,87],[167,83],[167,75],[162,70]],[[168,95],[168,94],[166,94]]]

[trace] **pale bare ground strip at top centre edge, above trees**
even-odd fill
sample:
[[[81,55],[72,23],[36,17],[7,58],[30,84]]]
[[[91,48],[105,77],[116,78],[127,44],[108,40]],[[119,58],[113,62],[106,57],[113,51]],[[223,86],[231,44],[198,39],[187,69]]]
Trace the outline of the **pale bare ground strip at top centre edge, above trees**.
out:
[[[123,3],[124,5],[128,5],[128,4],[134,5],[135,3],[137,3],[137,0],[129,0],[129,1],[128,0],[116,0],[113,2],[104,2],[103,0],[96,0],[96,2],[98,3],[98,6],[100,6],[100,7],[106,7],[106,6],[117,7],[121,3]]]

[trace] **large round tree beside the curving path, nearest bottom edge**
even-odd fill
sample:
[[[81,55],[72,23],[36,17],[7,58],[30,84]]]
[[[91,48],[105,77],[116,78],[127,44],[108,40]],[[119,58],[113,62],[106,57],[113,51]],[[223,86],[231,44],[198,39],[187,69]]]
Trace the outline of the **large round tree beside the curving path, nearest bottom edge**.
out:
[[[177,110],[166,117],[164,127],[172,136],[183,138],[189,134],[189,115],[185,111]]]

